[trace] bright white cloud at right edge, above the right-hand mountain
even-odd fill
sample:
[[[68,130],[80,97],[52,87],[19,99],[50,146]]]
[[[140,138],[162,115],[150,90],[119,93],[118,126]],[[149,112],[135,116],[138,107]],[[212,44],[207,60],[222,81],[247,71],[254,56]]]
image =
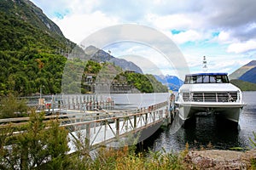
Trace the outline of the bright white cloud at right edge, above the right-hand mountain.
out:
[[[227,49],[228,53],[244,53],[249,50],[256,50],[256,41],[254,40],[249,40],[247,42],[237,42],[237,43],[232,43]]]

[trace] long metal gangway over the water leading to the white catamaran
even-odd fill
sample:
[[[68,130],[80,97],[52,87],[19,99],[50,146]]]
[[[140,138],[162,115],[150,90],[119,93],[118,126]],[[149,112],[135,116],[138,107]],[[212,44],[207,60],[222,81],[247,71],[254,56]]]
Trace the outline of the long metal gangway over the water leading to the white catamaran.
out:
[[[167,102],[162,102],[137,110],[108,112],[108,116],[103,118],[99,114],[80,116],[73,118],[73,122],[61,122],[61,127],[67,127],[70,131],[68,137],[72,153],[76,151],[74,142],[78,140],[84,142],[88,150],[100,145],[119,147],[140,142],[151,136],[163,123],[170,123],[170,114]]]

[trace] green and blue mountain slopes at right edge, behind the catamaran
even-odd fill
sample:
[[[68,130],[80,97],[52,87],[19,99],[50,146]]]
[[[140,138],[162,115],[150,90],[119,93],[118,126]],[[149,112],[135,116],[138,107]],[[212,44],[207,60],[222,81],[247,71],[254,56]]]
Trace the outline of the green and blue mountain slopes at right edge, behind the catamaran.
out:
[[[247,65],[241,66],[239,69],[229,75],[230,80],[238,79],[245,82],[256,83],[256,60],[252,60]]]

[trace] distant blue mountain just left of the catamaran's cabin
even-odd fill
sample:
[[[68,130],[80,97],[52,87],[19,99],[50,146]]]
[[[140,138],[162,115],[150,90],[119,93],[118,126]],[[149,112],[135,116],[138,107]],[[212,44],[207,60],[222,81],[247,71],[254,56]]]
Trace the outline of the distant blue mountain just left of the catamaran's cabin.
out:
[[[158,80],[162,84],[166,85],[169,89],[171,89],[173,91],[177,91],[178,88],[180,88],[183,85],[183,81],[175,76],[154,75],[154,77],[156,78],[156,80]]]

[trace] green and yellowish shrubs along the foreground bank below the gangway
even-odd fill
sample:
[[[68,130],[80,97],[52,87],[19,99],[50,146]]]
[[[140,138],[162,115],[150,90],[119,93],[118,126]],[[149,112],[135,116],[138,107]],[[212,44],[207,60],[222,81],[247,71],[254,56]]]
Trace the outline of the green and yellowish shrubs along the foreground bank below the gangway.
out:
[[[96,150],[94,158],[88,150],[67,155],[67,130],[59,127],[57,120],[46,124],[42,114],[33,114],[26,127],[26,132],[17,135],[6,135],[12,133],[10,127],[1,129],[1,169],[186,169],[184,154],[165,150],[137,154],[128,147],[102,147]],[[8,144],[12,150],[4,147]]]

